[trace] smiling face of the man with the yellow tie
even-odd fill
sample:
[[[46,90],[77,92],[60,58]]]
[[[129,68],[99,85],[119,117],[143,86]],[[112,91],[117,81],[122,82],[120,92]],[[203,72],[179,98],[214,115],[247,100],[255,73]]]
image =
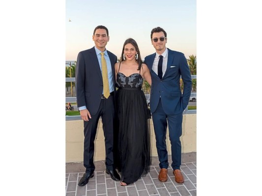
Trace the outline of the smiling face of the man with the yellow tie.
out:
[[[105,51],[107,42],[109,41],[109,36],[107,35],[106,29],[96,29],[93,35],[93,41],[97,49],[100,51]]]

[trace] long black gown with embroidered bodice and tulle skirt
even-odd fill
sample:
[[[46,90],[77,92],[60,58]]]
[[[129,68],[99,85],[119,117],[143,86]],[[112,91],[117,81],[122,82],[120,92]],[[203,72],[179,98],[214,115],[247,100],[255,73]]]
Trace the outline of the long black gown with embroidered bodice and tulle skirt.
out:
[[[118,138],[116,167],[121,181],[131,184],[149,172],[151,164],[150,126],[147,105],[141,90],[143,77],[133,73],[116,75],[116,111]]]

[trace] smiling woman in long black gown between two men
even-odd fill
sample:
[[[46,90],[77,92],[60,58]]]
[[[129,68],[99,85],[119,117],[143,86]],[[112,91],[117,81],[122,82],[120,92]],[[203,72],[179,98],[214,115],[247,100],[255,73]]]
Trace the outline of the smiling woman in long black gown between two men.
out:
[[[126,186],[146,175],[151,164],[146,97],[141,90],[144,79],[151,85],[151,75],[132,38],[124,42],[121,61],[116,63],[115,70],[119,128],[115,163],[121,172],[120,185]]]

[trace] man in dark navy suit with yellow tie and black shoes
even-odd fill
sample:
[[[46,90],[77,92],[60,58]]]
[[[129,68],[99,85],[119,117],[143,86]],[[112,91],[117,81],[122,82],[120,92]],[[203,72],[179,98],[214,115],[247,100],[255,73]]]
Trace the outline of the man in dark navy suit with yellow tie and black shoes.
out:
[[[79,52],[76,67],[76,97],[81,118],[84,120],[84,166],[86,168],[79,186],[85,186],[89,178],[94,176],[94,140],[100,117],[105,136],[106,172],[113,180],[120,180],[114,168],[113,156],[117,57],[106,49],[109,41],[107,27],[102,25],[95,27],[93,41],[95,44],[93,48]],[[102,76],[102,69],[107,76]],[[105,77],[108,80],[106,81],[107,89],[103,87]],[[104,91],[107,95],[104,95]]]

